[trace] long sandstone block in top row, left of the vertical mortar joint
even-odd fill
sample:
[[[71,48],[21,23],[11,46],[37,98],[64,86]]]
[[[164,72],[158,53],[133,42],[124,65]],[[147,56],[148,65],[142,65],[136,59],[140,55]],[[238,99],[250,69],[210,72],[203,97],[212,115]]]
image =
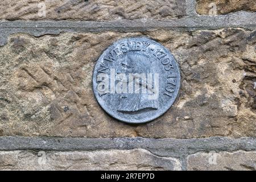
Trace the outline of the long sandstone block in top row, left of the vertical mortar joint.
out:
[[[177,19],[185,15],[185,0],[3,0],[0,19]]]

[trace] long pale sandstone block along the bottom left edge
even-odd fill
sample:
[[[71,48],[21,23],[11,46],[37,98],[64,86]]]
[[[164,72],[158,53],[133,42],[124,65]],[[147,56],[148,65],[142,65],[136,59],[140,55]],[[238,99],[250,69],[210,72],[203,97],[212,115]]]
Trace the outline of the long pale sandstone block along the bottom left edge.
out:
[[[144,149],[74,152],[0,151],[0,170],[181,170],[179,160]]]

